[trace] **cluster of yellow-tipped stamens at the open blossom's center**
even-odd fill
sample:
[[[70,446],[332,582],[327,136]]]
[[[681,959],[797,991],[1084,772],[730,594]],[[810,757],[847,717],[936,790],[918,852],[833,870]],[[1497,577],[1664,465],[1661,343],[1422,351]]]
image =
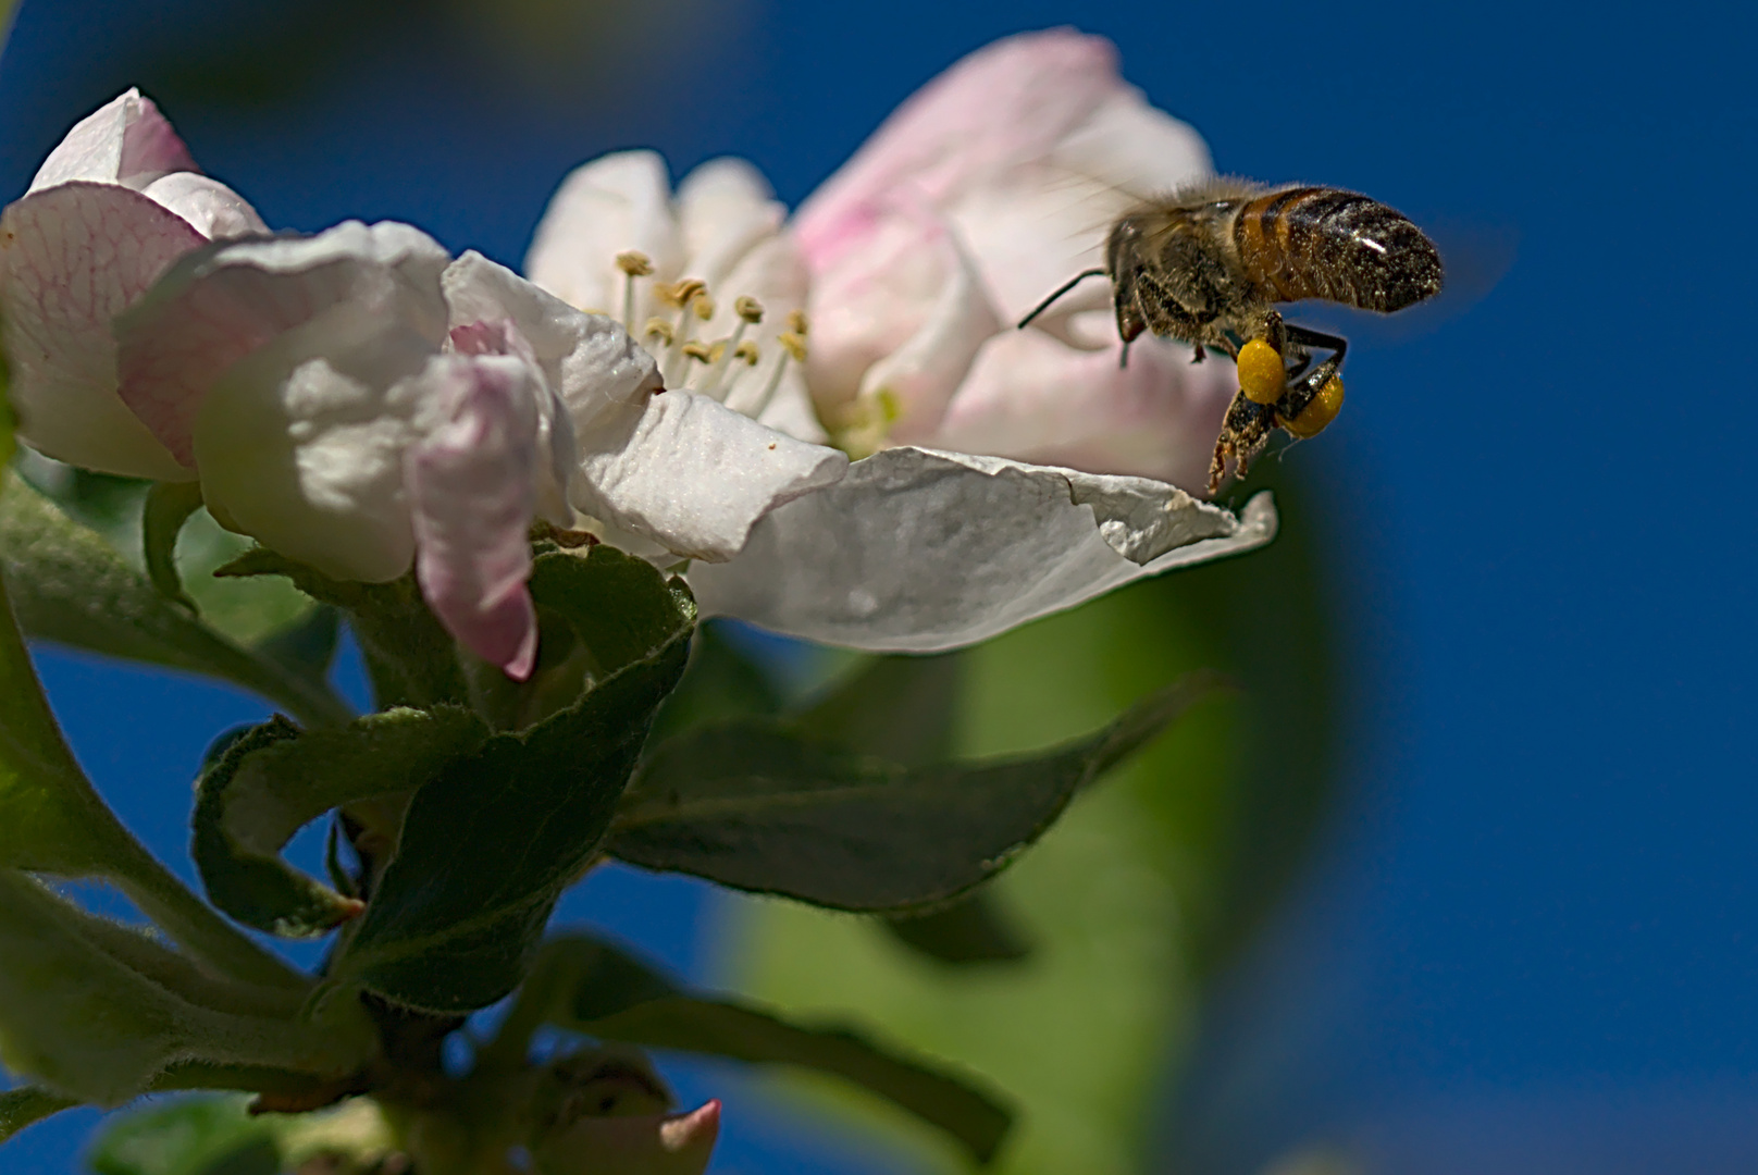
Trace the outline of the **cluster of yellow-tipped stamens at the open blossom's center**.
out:
[[[805,315],[788,315],[788,329],[768,343],[763,332],[763,304],[749,294],[733,299],[731,334],[701,338],[714,322],[717,303],[705,281],[680,278],[652,281],[650,304],[661,313],[635,322],[642,304],[640,283],[652,280],[652,260],[638,252],[617,253],[622,271],[622,327],[659,362],[659,375],[670,389],[687,389],[712,396],[747,417],[761,417],[775,398],[788,364],[805,362]],[[766,352],[766,354],[765,354]]]

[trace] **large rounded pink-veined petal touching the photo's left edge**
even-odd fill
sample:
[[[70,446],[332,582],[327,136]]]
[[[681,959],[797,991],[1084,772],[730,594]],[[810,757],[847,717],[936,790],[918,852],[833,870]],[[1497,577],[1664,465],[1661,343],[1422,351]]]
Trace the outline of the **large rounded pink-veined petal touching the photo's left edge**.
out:
[[[200,244],[183,218],[107,183],[63,183],[5,209],[5,350],[32,447],[102,473],[193,477],[118,396],[111,322]]]

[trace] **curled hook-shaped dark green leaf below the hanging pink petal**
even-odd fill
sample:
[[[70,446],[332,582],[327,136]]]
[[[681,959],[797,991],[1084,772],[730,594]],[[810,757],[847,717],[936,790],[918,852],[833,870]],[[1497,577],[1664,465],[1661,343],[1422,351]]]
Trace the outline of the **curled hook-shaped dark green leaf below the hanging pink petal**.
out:
[[[387,711],[308,733],[285,719],[257,726],[197,785],[193,855],[207,897],[287,938],[323,934],[359,915],[359,901],[290,867],[281,848],[332,807],[413,792],[487,737],[480,718],[455,707]]]

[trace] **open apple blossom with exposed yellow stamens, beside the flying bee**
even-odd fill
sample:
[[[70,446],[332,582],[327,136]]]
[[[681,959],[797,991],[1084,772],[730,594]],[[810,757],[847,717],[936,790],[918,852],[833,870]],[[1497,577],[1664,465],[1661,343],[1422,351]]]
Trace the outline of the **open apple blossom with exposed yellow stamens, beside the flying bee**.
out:
[[[705,164],[673,195],[654,153],[624,151],[568,176],[526,267],[621,313],[701,394],[809,440],[816,403],[839,445],[879,449],[765,512],[737,558],[693,566],[705,614],[946,649],[1273,536],[1268,498],[1239,519],[1166,482],[1027,463],[1201,484],[1227,364],[1194,369],[1188,350],[1144,339],[1120,369],[1093,290],[1030,331],[1013,320],[1090,264],[1120,185],[1206,169],[1195,134],[1116,77],[1108,42],[1039,33],[930,84],[781,232],[747,164]],[[742,299],[761,317],[726,313]],[[756,366],[728,390],[740,348]],[[763,371],[775,394],[749,398]]]

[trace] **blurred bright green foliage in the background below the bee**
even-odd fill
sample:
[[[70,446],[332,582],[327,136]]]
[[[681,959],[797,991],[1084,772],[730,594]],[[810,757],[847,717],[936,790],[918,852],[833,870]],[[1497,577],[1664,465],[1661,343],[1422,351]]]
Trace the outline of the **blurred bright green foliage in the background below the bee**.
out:
[[[960,654],[962,755],[1092,730],[1195,668],[1239,693],[1199,704],[1078,797],[983,894],[1023,959],[948,966],[883,922],[733,899],[728,966],[791,1011],[858,1013],[891,1038],[1018,1098],[999,1170],[1123,1175],[1197,1029],[1206,983],[1285,890],[1333,792],[1336,681],[1318,533],[1299,485],[1276,487],[1268,551],[1136,584]],[[977,952],[981,957],[981,952]],[[930,1170],[956,1156],[902,1115],[789,1089],[875,1126]]]

